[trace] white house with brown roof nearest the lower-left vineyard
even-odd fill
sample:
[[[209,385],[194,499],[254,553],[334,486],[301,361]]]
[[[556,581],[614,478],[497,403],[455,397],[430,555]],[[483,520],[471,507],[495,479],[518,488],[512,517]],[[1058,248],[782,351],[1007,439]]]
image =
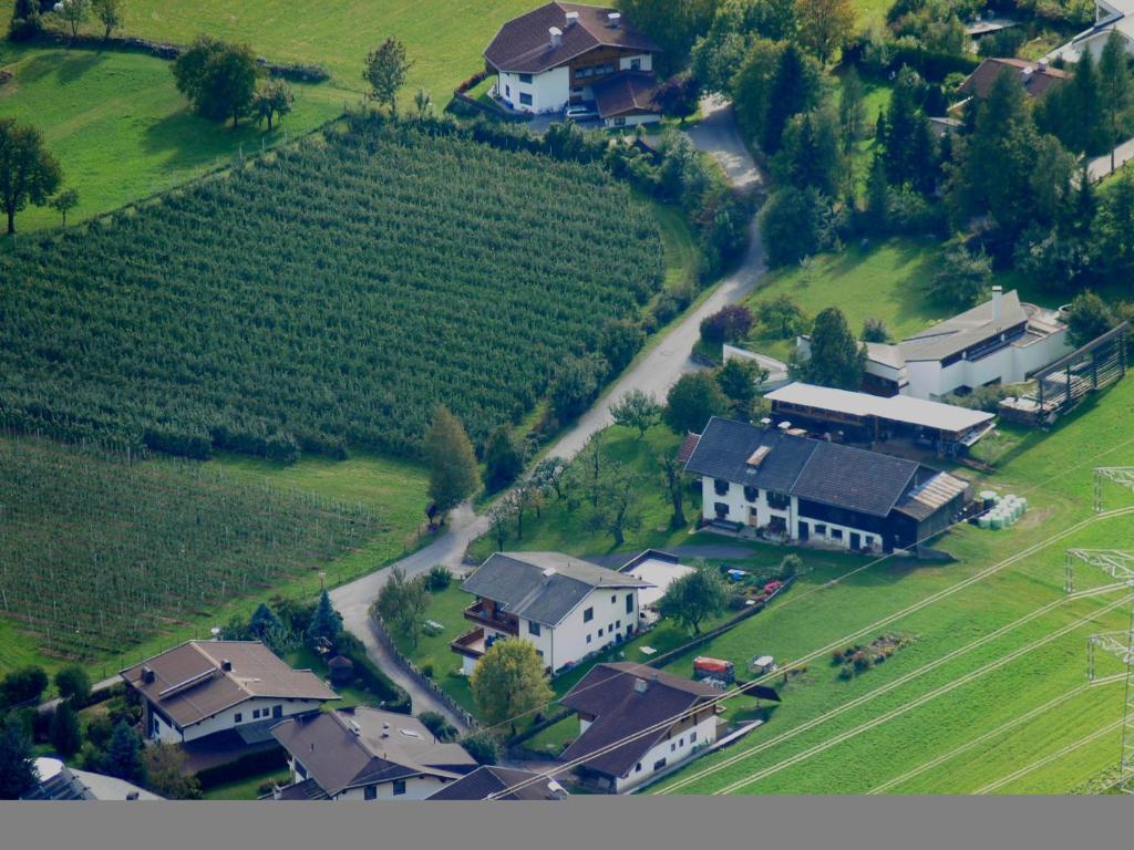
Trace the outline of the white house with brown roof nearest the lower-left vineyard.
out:
[[[189,640],[119,674],[142,698],[146,737],[167,743],[266,726],[340,698],[259,640]]]

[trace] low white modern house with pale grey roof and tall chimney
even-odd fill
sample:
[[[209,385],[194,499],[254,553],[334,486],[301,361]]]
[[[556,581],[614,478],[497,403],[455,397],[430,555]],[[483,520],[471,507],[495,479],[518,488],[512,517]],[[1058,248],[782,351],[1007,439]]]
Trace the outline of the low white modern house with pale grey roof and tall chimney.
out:
[[[1023,304],[1016,290],[992,298],[895,345],[865,342],[863,389],[879,396],[939,400],[985,384],[1012,384],[1072,351],[1058,312]],[[811,341],[798,340],[799,354]]]

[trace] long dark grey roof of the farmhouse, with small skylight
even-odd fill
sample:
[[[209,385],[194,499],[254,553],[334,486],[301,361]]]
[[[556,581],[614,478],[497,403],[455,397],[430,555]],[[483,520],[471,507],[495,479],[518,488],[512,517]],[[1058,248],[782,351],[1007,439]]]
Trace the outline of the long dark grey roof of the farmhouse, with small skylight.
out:
[[[747,460],[760,447],[763,461]],[[887,516],[914,483],[912,460],[713,417],[685,470],[836,508]]]

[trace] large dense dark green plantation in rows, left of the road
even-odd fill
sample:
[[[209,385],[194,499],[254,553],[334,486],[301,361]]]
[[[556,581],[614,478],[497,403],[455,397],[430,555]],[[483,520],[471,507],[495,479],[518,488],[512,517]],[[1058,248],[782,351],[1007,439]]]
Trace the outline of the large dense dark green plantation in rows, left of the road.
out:
[[[0,419],[204,458],[517,420],[663,274],[598,165],[408,125],[305,139],[0,257]]]

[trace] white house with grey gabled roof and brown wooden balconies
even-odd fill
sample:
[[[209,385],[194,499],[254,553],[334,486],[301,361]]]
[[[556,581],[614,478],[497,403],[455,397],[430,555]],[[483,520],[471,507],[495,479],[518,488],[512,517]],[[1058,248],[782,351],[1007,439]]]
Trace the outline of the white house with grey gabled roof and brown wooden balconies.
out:
[[[472,674],[497,640],[528,640],[557,673],[635,635],[638,590],[648,587],[632,575],[559,552],[497,552],[460,585],[476,597],[464,611],[476,626],[449,646]]]

